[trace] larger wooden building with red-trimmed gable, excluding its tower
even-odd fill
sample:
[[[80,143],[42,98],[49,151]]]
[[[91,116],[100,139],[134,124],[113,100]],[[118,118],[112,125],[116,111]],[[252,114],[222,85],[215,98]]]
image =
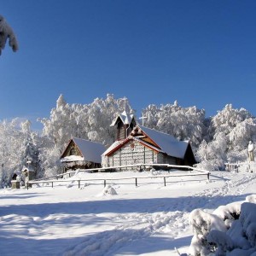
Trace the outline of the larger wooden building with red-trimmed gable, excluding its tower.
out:
[[[193,166],[196,161],[189,141],[178,141],[172,135],[141,125],[102,154],[103,167],[153,163]]]

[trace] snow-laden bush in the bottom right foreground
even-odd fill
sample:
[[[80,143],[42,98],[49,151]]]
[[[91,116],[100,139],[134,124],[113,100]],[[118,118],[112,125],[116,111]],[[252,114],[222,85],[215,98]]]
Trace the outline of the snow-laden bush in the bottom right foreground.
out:
[[[189,224],[194,230],[189,255],[256,256],[256,195],[218,207],[212,214],[195,209]]]

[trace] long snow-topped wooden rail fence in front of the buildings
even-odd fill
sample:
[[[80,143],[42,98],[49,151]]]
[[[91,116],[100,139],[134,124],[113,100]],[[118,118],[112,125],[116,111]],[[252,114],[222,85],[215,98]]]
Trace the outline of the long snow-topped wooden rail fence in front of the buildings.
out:
[[[118,169],[121,169],[121,168],[127,168],[127,167],[136,167],[136,166],[148,166],[147,164],[142,164],[142,165],[132,165],[132,166],[114,166],[114,168],[118,168]],[[114,181],[114,180],[128,180],[128,179],[131,179],[131,180],[134,180],[135,181],[135,185],[137,186],[138,185],[138,179],[147,179],[147,178],[163,178],[163,181],[164,181],[164,185],[166,186],[166,178],[167,177],[190,177],[190,176],[201,176],[201,175],[206,175],[207,176],[207,180],[210,179],[210,172],[208,171],[205,171],[205,170],[201,170],[201,169],[198,169],[198,168],[195,168],[195,167],[191,167],[191,166],[174,166],[174,165],[150,165],[150,166],[165,166],[167,168],[175,168],[175,169],[178,169],[178,168],[182,168],[182,169],[190,169],[191,171],[197,171],[195,173],[186,173],[186,174],[168,174],[168,175],[155,175],[155,176],[148,176],[148,177],[119,177],[119,178],[86,178],[86,179],[73,179],[72,182],[77,182],[78,183],[78,186],[80,188],[81,186],[81,182],[91,182],[91,181],[102,181],[103,184],[104,184],[104,187],[106,187],[107,185],[107,181]],[[85,170],[79,170],[79,172],[90,172],[90,171],[96,171],[96,170],[106,170],[106,169],[113,169],[113,167],[107,167],[107,168],[97,168],[97,169],[85,169]],[[184,170],[182,170],[184,171]],[[77,171],[75,171],[77,172]],[[28,181],[26,183],[26,186],[27,186],[27,189],[29,188],[30,185],[32,184],[37,184],[37,183],[51,183],[51,187],[53,188],[54,187],[54,183],[70,183],[71,180],[67,180],[67,179],[58,179],[58,177],[63,177],[63,175],[66,175],[66,174],[69,174],[69,177],[70,177],[70,174],[74,174],[75,172],[68,172],[68,173],[63,173],[61,175],[57,175],[57,176],[53,176],[53,177],[56,177],[56,179],[38,179],[38,180],[32,180],[32,181]],[[172,171],[174,172],[174,171]],[[188,172],[187,170],[184,171],[184,172]]]

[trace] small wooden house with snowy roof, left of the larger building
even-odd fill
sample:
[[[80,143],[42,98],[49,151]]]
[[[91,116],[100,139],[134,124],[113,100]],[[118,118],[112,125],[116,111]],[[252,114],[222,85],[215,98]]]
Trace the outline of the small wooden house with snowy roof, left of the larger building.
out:
[[[94,143],[73,137],[61,154],[61,163],[67,169],[91,169],[102,166],[102,153],[106,148],[101,143]]]

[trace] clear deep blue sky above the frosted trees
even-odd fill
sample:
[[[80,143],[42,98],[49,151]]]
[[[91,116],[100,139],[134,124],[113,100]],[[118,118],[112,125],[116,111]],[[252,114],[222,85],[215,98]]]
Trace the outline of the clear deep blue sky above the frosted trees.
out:
[[[20,50],[0,56],[0,119],[47,118],[60,96],[177,100],[256,115],[256,1],[0,0]]]

